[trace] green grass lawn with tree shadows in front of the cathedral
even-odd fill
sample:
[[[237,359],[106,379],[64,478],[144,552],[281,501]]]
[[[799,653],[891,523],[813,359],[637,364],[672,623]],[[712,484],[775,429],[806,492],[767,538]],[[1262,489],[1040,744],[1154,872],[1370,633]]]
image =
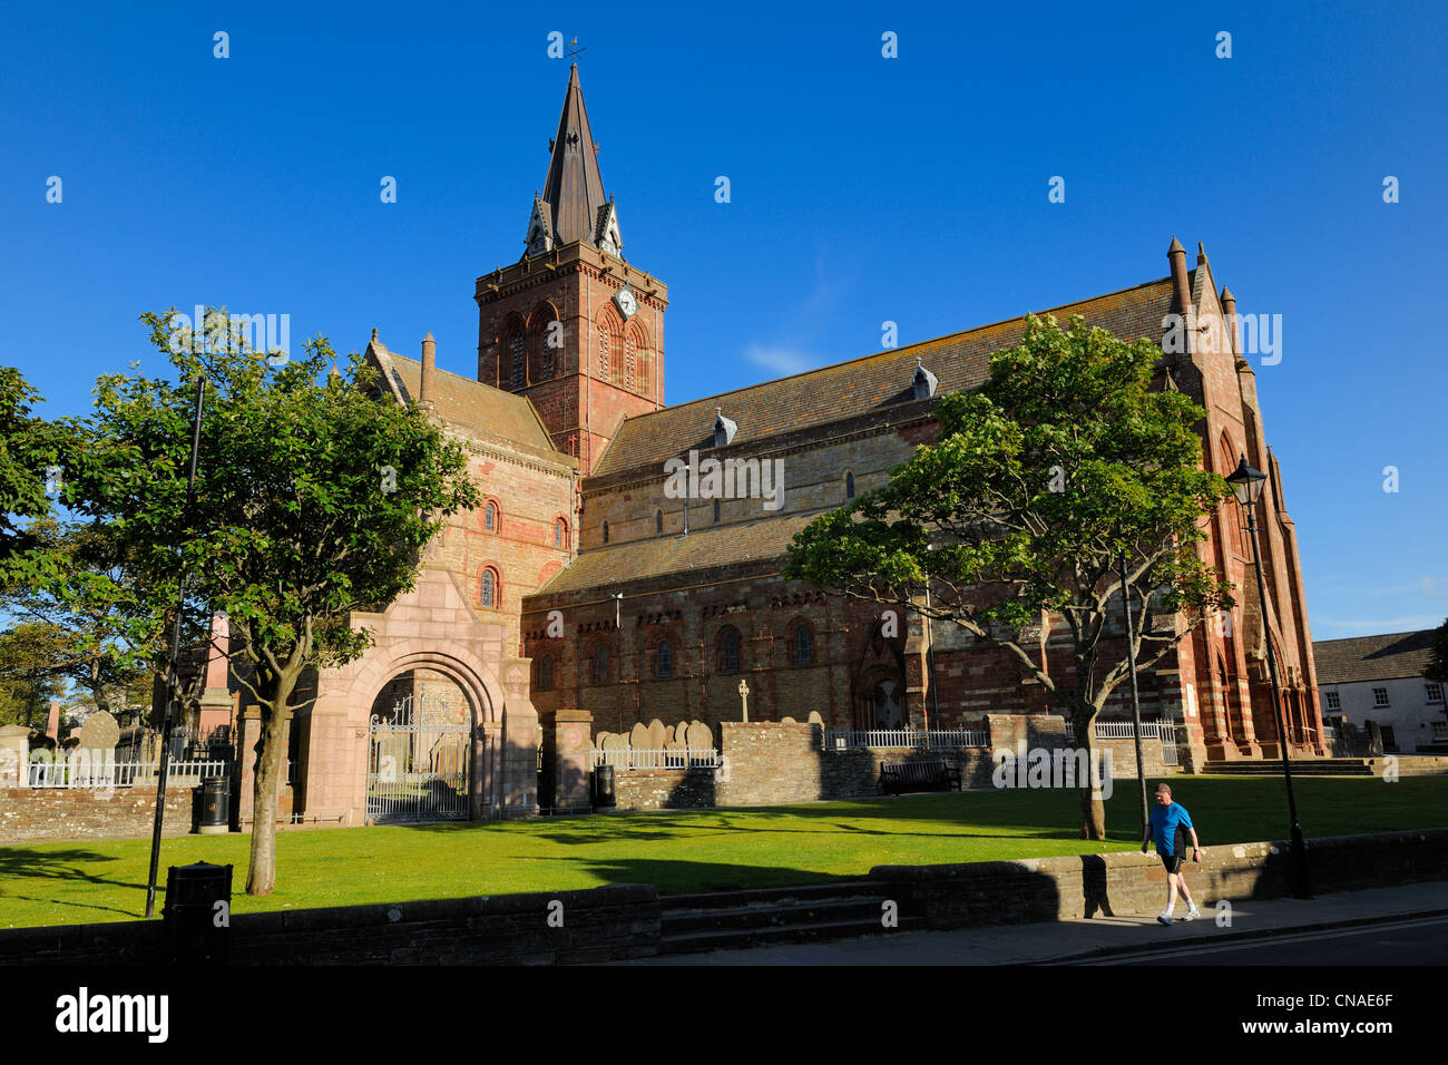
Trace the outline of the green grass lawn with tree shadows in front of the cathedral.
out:
[[[1203,846],[1283,839],[1280,780],[1176,784]],[[1448,826],[1448,778],[1296,781],[1308,836]],[[277,891],[242,894],[249,836],[162,840],[165,868],[236,866],[235,913],[656,884],[679,894],[808,884],[873,865],[976,862],[1127,851],[1140,845],[1137,793],[1119,781],[1109,840],[1076,829],[1076,794],[973,791],[750,810],[678,810],[556,820],[317,829],[278,836]],[[0,927],[129,920],[145,907],[149,840],[0,846]],[[158,907],[159,910],[159,907]]]

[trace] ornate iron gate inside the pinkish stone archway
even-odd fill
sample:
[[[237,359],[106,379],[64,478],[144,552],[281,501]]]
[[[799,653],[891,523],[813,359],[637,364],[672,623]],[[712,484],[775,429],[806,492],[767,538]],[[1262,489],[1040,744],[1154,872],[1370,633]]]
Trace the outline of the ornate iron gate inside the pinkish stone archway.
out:
[[[368,726],[366,816],[369,822],[434,822],[468,817],[468,707],[437,696],[401,698]]]

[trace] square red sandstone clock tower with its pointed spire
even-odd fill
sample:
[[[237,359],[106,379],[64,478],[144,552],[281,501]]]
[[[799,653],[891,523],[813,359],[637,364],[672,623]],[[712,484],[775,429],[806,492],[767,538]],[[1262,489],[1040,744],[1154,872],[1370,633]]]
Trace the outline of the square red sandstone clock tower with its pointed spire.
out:
[[[523,256],[478,278],[478,380],[527,396],[588,475],[624,417],[663,406],[662,281],[623,258],[578,65]]]

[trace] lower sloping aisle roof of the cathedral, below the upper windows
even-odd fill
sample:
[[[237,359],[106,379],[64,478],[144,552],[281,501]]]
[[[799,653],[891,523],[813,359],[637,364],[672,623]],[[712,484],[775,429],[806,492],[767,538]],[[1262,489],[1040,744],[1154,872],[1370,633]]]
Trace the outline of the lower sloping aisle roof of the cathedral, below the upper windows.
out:
[[[688,536],[652,536],[584,551],[534,596],[615,587],[665,574],[696,575],[714,567],[779,559],[794,535],[821,513],[785,513],[753,522],[707,525]]]

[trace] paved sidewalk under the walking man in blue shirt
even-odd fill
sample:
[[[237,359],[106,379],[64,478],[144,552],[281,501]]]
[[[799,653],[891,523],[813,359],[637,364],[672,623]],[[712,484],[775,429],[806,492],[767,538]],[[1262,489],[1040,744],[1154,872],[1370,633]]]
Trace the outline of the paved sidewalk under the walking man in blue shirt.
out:
[[[1231,926],[1218,926],[1216,910],[1182,922],[1177,903],[1171,927],[1147,917],[1092,917],[1035,924],[995,924],[954,932],[883,933],[834,943],[785,943],[749,951],[647,958],[627,965],[1009,965],[1082,959],[1118,951],[1182,946],[1218,939],[1248,939],[1290,930],[1348,927],[1390,917],[1448,913],[1448,882],[1345,891],[1310,901],[1264,898],[1232,903]]]

